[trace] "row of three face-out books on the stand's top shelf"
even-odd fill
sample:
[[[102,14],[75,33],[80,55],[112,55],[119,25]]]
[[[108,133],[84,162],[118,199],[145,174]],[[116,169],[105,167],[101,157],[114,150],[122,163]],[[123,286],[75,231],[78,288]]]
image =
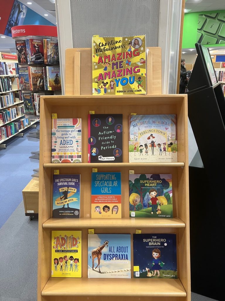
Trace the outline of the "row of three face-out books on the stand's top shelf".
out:
[[[177,162],[176,115],[129,115],[129,162]],[[123,115],[88,115],[88,162],[123,162]],[[82,162],[81,118],[52,119],[52,163]]]

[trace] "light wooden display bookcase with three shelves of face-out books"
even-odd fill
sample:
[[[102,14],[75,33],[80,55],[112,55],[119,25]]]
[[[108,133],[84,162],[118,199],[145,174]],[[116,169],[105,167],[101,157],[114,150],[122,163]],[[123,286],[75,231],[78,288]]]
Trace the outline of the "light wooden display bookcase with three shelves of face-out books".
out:
[[[68,49],[68,52],[72,50]],[[73,52],[76,51],[73,49]],[[84,49],[84,53],[88,50]],[[90,53],[90,50],[89,52]],[[82,52],[80,50],[82,61]],[[90,58],[88,58],[90,60]],[[71,65],[71,64],[70,64]],[[86,66],[86,65],[85,65]],[[86,68],[86,67],[85,67]],[[79,70],[79,69],[78,69]],[[89,69],[88,69],[89,70]],[[90,70],[89,70],[90,71]],[[73,70],[67,71],[73,74]],[[75,73],[76,77],[76,73]],[[78,85],[74,90],[87,89]],[[76,83],[80,83],[75,79]],[[82,77],[81,77],[82,82]],[[73,80],[70,85],[73,87]],[[66,84],[67,92],[69,86]],[[78,90],[77,90],[78,89]],[[71,91],[70,91],[71,93]],[[89,93],[89,94],[90,94]],[[94,101],[95,99],[95,101]],[[40,129],[40,186],[39,186],[39,236],[38,236],[38,301],[190,301],[190,246],[189,246],[189,195],[188,195],[188,139],[187,139],[187,95],[128,95],[128,96],[42,96]],[[123,163],[88,163],[88,113],[123,114]],[[177,140],[179,145],[177,163],[129,163],[128,160],[128,115],[177,114]],[[82,118],[82,163],[51,163],[52,113],[58,118]],[[122,218],[91,219],[91,172],[121,172]],[[80,219],[52,218],[52,175],[81,174]],[[135,173],[171,173],[173,177],[173,219],[147,219],[129,217],[129,170]],[[98,279],[88,276],[88,229],[95,233],[134,234],[176,233],[178,279]],[[82,231],[82,278],[51,278],[51,231]],[[133,275],[133,241],[131,235],[131,275]]]

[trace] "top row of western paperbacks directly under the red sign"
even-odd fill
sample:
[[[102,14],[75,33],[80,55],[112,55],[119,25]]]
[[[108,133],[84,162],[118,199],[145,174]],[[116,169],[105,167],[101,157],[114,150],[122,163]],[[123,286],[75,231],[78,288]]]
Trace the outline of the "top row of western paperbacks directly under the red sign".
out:
[[[59,64],[58,39],[24,39],[16,41],[19,64]]]

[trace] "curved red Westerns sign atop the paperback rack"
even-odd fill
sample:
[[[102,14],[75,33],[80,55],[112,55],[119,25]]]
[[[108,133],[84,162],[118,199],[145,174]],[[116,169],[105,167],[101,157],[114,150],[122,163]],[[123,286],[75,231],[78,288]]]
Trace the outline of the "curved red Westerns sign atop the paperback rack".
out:
[[[48,25],[20,25],[11,28],[12,37],[50,36],[57,37],[57,27]]]

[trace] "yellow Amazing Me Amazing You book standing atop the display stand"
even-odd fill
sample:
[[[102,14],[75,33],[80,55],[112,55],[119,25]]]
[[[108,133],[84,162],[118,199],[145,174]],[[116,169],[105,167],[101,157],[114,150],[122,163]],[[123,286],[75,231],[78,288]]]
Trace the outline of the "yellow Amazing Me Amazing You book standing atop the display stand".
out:
[[[146,94],[145,36],[92,38],[93,95]]]

